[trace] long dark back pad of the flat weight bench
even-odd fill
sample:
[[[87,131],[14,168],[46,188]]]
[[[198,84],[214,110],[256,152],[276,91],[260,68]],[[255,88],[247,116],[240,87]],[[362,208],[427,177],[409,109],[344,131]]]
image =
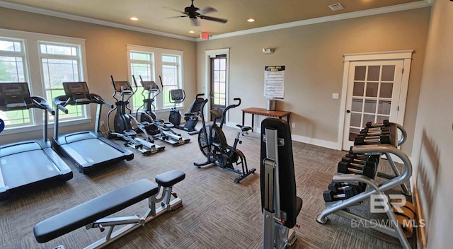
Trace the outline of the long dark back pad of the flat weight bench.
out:
[[[119,212],[142,199],[156,195],[158,192],[159,187],[145,179],[110,191],[35,224],[33,232],[36,241],[39,243],[50,241],[105,216]]]

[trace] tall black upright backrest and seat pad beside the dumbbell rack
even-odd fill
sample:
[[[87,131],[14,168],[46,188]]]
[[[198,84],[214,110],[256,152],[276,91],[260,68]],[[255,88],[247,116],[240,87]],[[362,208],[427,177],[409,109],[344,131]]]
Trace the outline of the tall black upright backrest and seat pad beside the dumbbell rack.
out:
[[[302,199],[296,196],[296,178],[294,175],[294,159],[292,157],[291,130],[286,120],[268,117],[261,122],[261,134],[265,135],[265,129],[277,129],[277,137],[284,139],[285,144],[278,146],[278,168],[280,183],[280,209],[287,214],[285,226],[292,228],[297,223],[297,215],[302,209]],[[266,144],[261,139],[261,168],[265,172],[263,160],[266,158]],[[264,208],[265,174],[260,174],[261,209]]]

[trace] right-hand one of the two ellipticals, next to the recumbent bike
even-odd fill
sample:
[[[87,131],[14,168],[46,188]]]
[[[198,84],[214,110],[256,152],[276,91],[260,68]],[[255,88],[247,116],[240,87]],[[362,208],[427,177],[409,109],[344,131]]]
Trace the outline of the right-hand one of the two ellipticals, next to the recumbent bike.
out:
[[[172,146],[187,144],[190,141],[190,139],[185,139],[181,137],[180,134],[174,132],[171,129],[172,127],[174,127],[173,124],[171,124],[170,122],[164,122],[164,120],[159,120],[156,118],[156,113],[153,110],[154,108],[156,108],[154,106],[154,99],[156,98],[157,95],[159,95],[162,92],[162,89],[164,88],[161,76],[159,76],[159,79],[161,80],[162,89],[159,88],[159,86],[157,86],[155,81],[144,81],[142,79],[142,76],[139,77],[140,83],[142,83],[143,86],[142,96],[144,100],[143,105],[137,109],[136,112],[137,119],[138,115],[140,115],[140,122],[145,122],[149,124],[148,126],[149,129],[153,129],[152,132],[155,132],[155,134],[153,134],[153,137],[155,139],[165,141],[166,143],[171,144]],[[134,80],[135,87],[137,88],[137,81],[135,80],[135,77],[133,75],[132,79]],[[147,91],[146,97],[144,95],[145,91]]]

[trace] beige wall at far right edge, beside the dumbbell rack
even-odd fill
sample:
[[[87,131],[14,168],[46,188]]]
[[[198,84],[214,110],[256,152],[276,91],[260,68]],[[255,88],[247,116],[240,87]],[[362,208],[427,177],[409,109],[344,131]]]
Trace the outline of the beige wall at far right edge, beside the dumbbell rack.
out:
[[[453,244],[453,2],[432,6],[413,142],[413,166],[428,248]]]

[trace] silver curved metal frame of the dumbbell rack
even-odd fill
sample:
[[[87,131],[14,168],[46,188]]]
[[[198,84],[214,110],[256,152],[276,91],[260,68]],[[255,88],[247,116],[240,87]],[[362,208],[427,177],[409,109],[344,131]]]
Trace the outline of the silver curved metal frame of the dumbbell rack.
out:
[[[385,191],[391,190],[398,185],[401,185],[404,195],[411,195],[411,192],[407,189],[405,183],[409,180],[409,178],[411,178],[412,163],[409,160],[408,156],[406,156],[406,154],[397,149],[397,146],[400,146],[404,143],[404,141],[406,141],[407,133],[401,125],[390,123],[389,127],[392,144],[367,144],[352,146],[351,151],[354,154],[365,154],[367,156],[385,155],[388,159],[391,169],[394,172],[394,175],[377,172],[375,176],[387,179],[382,184],[378,184],[373,178],[369,178],[365,175],[334,175],[333,183],[365,183],[367,185],[367,190],[348,199],[338,200],[335,202],[326,202],[326,209],[324,209],[323,212],[319,214],[316,221],[321,224],[326,224],[328,221],[327,216],[329,214],[336,214],[338,216],[342,216],[345,219],[359,221],[361,224],[365,224],[365,227],[374,228],[377,231],[398,238],[401,245],[403,245],[403,248],[411,248],[411,245],[409,245],[401,226],[391,226],[391,224],[398,224],[398,220],[393,210],[391,209],[389,199],[386,199],[386,202],[384,202],[384,204],[386,204],[386,207],[388,207],[386,209],[386,215],[388,216],[389,221],[391,221],[388,223],[390,226],[386,226],[386,224],[373,223],[372,220],[359,216],[357,214],[353,214],[349,211],[349,207],[361,204],[366,199],[369,199],[372,195],[384,196]],[[401,139],[396,141],[398,137],[398,129],[401,131]],[[401,161],[403,161],[403,173],[400,173],[398,171],[394,161],[391,158],[391,155],[394,155],[400,158]]]

